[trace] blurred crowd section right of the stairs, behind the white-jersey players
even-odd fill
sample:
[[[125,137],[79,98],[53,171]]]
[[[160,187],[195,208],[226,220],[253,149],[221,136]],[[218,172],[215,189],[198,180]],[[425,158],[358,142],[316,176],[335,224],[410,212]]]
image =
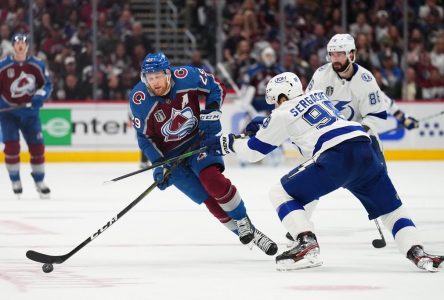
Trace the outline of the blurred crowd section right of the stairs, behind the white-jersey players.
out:
[[[298,74],[306,86],[313,72],[327,62],[329,38],[344,32],[341,0],[285,1],[283,43],[279,0],[226,2],[224,60],[239,85],[249,66],[260,63],[259,45],[268,42],[276,55],[283,53],[282,67]],[[443,3],[408,1],[408,52],[403,55],[403,2],[347,1],[347,32],[355,38],[356,62],[370,70],[392,98],[444,98]],[[407,88],[403,93],[404,78]]]

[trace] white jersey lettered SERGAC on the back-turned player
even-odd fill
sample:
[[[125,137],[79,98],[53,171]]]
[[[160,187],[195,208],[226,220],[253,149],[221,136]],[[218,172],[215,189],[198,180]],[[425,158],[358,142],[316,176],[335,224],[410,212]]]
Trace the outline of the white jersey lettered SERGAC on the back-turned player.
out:
[[[344,118],[323,91],[311,91],[275,108],[255,137],[236,139],[233,149],[240,158],[255,162],[290,139],[304,157],[311,158],[357,136],[368,137],[359,123]]]

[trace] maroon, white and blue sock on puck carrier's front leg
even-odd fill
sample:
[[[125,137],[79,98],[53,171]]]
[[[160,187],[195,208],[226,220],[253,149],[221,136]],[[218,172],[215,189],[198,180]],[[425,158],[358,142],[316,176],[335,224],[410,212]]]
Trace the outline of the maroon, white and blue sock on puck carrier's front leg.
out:
[[[245,205],[236,187],[215,165],[203,169],[199,174],[199,180],[208,194],[231,218],[240,220],[246,217]]]

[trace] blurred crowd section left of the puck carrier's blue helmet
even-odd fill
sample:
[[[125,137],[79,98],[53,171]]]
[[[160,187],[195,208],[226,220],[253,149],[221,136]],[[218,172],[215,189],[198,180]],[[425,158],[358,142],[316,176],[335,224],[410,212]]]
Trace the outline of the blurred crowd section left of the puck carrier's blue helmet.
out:
[[[10,37],[29,32],[29,1],[0,3],[0,57],[12,52]],[[92,1],[32,1],[34,55],[48,64],[51,99],[92,99]],[[134,20],[128,1],[98,1],[98,99],[126,99],[139,80],[140,62],[152,51],[151,41]]]

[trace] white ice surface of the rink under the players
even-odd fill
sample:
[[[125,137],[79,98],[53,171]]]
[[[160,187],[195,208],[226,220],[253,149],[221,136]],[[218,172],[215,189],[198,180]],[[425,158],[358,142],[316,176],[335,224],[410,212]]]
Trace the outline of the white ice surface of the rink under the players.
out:
[[[425,249],[444,254],[444,162],[389,162],[389,173]],[[19,299],[441,299],[444,272],[427,273],[403,257],[391,234],[387,246],[353,196],[336,191],[313,215],[322,267],[275,270],[274,257],[249,250],[206,210],[175,188],[155,190],[54,271],[25,257],[27,250],[62,255],[117,215],[151,183],[131,163],[47,164],[50,200],[38,198],[29,165],[24,193],[12,194],[0,164],[0,298]],[[285,230],[268,189],[290,165],[229,166],[253,223],[286,250]],[[303,188],[303,187],[301,187]],[[440,296],[441,295],[441,296]]]

